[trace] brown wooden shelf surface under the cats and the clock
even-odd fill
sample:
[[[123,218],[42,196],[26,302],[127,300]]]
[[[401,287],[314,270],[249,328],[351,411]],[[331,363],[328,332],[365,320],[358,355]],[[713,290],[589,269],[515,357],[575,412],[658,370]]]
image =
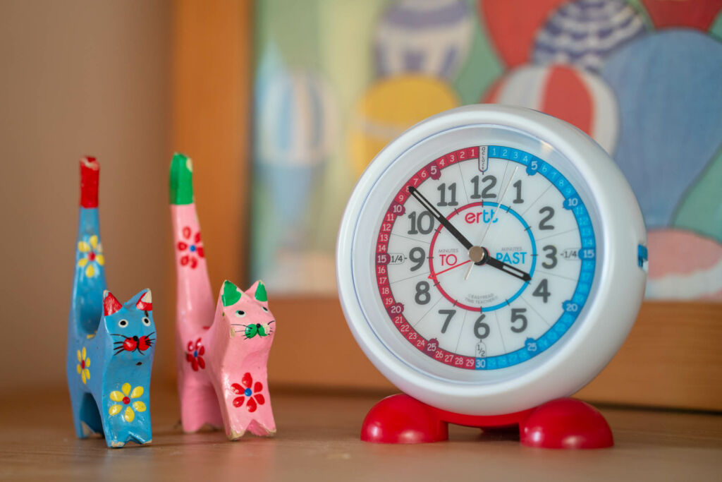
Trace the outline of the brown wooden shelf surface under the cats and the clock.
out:
[[[271,390],[273,390],[271,388]],[[5,394],[4,396],[8,396]],[[152,393],[153,442],[108,449],[76,439],[64,387],[0,402],[0,478],[10,480],[719,480],[722,416],[603,408],[616,447],[530,449],[513,435],[453,427],[451,440],[415,446],[360,442],[376,396],[274,395],[278,433],[227,442],[183,434],[175,393]]]

